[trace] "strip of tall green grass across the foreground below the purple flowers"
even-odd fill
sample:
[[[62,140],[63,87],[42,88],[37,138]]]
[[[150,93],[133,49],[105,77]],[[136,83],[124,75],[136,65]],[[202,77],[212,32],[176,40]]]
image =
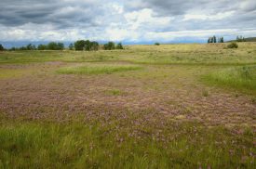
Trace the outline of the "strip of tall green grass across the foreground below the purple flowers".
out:
[[[113,125],[79,121],[5,121],[0,123],[0,168],[255,166],[253,156],[249,155],[253,147],[251,129],[237,136],[222,126],[207,128],[198,123],[179,126],[169,123],[164,132],[173,136],[165,141],[150,135],[128,136],[128,128],[115,131]]]

